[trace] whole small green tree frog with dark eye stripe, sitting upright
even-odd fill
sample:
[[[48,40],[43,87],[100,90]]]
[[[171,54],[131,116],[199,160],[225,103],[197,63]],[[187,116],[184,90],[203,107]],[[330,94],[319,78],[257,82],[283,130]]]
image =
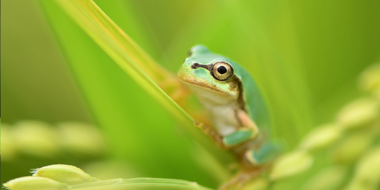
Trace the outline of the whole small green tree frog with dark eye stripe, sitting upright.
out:
[[[207,47],[196,45],[190,49],[178,76],[195,93],[213,123],[195,125],[241,161],[242,173],[225,187],[241,184],[268,165],[279,148],[266,140],[268,110],[247,71]]]

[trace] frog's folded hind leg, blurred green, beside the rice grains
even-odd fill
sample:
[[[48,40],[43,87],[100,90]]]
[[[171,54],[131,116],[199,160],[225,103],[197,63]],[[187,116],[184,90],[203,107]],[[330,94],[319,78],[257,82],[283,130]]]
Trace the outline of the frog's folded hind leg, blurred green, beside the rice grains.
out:
[[[258,150],[248,150],[244,157],[252,165],[264,165],[270,163],[280,153],[280,146],[272,142],[265,142]]]

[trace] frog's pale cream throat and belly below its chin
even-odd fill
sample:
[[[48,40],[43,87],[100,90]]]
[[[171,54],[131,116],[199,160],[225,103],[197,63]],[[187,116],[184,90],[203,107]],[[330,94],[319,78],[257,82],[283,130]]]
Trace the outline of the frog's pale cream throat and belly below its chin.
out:
[[[236,111],[239,109],[237,93],[222,93],[195,84],[188,84],[188,86],[210,112],[214,127],[220,135],[226,136],[240,127],[241,124],[236,116]]]

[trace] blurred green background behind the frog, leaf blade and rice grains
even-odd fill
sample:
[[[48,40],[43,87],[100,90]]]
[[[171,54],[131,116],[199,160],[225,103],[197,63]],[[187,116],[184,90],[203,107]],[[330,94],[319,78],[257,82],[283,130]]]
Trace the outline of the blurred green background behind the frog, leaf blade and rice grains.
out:
[[[240,63],[268,97],[273,133],[289,148],[359,97],[359,73],[380,59],[378,0],[95,3],[173,73],[198,43]],[[2,125],[85,122],[98,126],[107,146],[101,155],[2,159],[1,183],[56,163],[95,177],[102,168],[110,178],[176,178],[211,188],[229,176],[215,176],[227,166],[202,152],[54,2],[2,0],[0,13]]]

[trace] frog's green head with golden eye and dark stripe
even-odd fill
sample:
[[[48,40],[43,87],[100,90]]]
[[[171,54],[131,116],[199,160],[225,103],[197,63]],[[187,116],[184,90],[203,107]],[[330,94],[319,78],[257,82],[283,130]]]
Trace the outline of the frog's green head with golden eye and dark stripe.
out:
[[[217,93],[237,98],[239,86],[232,62],[205,46],[196,45],[190,49],[178,76],[198,95],[199,92]]]

